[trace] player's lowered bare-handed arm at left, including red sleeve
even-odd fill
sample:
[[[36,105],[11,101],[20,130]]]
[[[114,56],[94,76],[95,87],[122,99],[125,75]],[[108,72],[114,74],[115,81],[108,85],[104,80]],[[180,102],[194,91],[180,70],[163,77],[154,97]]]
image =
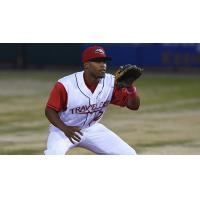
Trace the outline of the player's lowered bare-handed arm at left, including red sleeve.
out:
[[[74,141],[79,142],[80,136],[77,134],[80,132],[78,127],[66,126],[65,123],[60,119],[59,112],[67,109],[67,92],[64,86],[57,82],[51,91],[46,108],[45,115],[47,119],[57,128],[65,133],[69,140],[74,144]]]

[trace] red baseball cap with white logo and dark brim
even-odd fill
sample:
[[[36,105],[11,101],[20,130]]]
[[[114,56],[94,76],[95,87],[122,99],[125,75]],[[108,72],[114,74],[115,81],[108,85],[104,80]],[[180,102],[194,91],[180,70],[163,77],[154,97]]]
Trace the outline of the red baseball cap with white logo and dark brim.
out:
[[[87,62],[93,59],[103,58],[103,60],[111,60],[111,57],[106,55],[105,50],[100,46],[88,47],[83,51],[82,62]]]

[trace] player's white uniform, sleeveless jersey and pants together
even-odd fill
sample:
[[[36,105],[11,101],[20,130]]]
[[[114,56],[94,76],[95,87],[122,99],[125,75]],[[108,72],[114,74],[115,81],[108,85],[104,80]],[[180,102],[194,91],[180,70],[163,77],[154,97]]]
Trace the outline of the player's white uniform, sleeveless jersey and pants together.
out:
[[[98,83],[94,93],[86,86],[83,71],[59,80],[67,91],[67,109],[59,113],[68,126],[81,128],[80,142],[72,144],[65,133],[54,125],[49,127],[46,155],[64,155],[71,148],[83,147],[96,154],[135,155],[135,150],[114,132],[98,123],[111,101],[114,76],[106,74]]]

